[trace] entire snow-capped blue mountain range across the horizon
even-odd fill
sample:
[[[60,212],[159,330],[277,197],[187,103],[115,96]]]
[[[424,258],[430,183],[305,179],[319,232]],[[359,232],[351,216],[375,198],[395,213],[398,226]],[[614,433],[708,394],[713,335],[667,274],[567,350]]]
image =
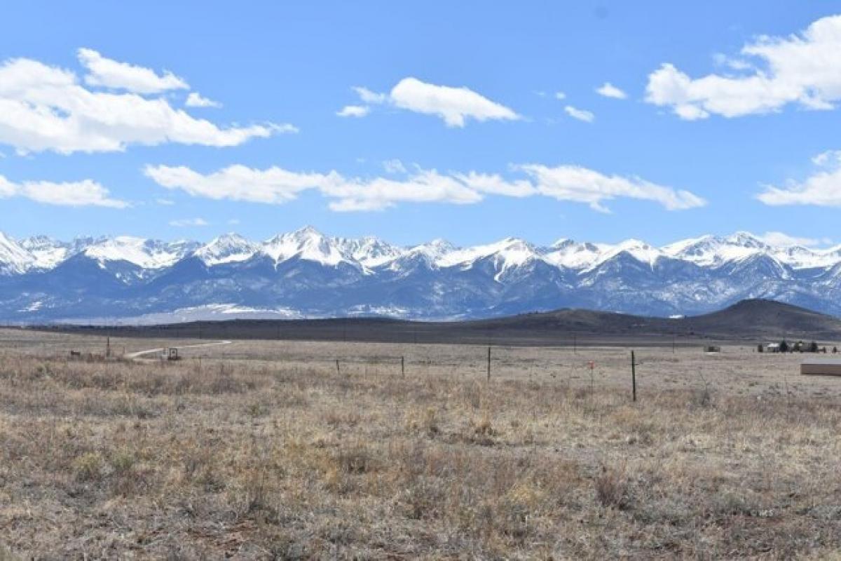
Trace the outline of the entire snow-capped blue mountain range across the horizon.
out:
[[[390,315],[466,319],[564,307],[690,315],[770,298],[841,315],[841,246],[702,236],[668,246],[506,238],[394,246],[307,227],[209,243],[0,233],[0,320]]]

